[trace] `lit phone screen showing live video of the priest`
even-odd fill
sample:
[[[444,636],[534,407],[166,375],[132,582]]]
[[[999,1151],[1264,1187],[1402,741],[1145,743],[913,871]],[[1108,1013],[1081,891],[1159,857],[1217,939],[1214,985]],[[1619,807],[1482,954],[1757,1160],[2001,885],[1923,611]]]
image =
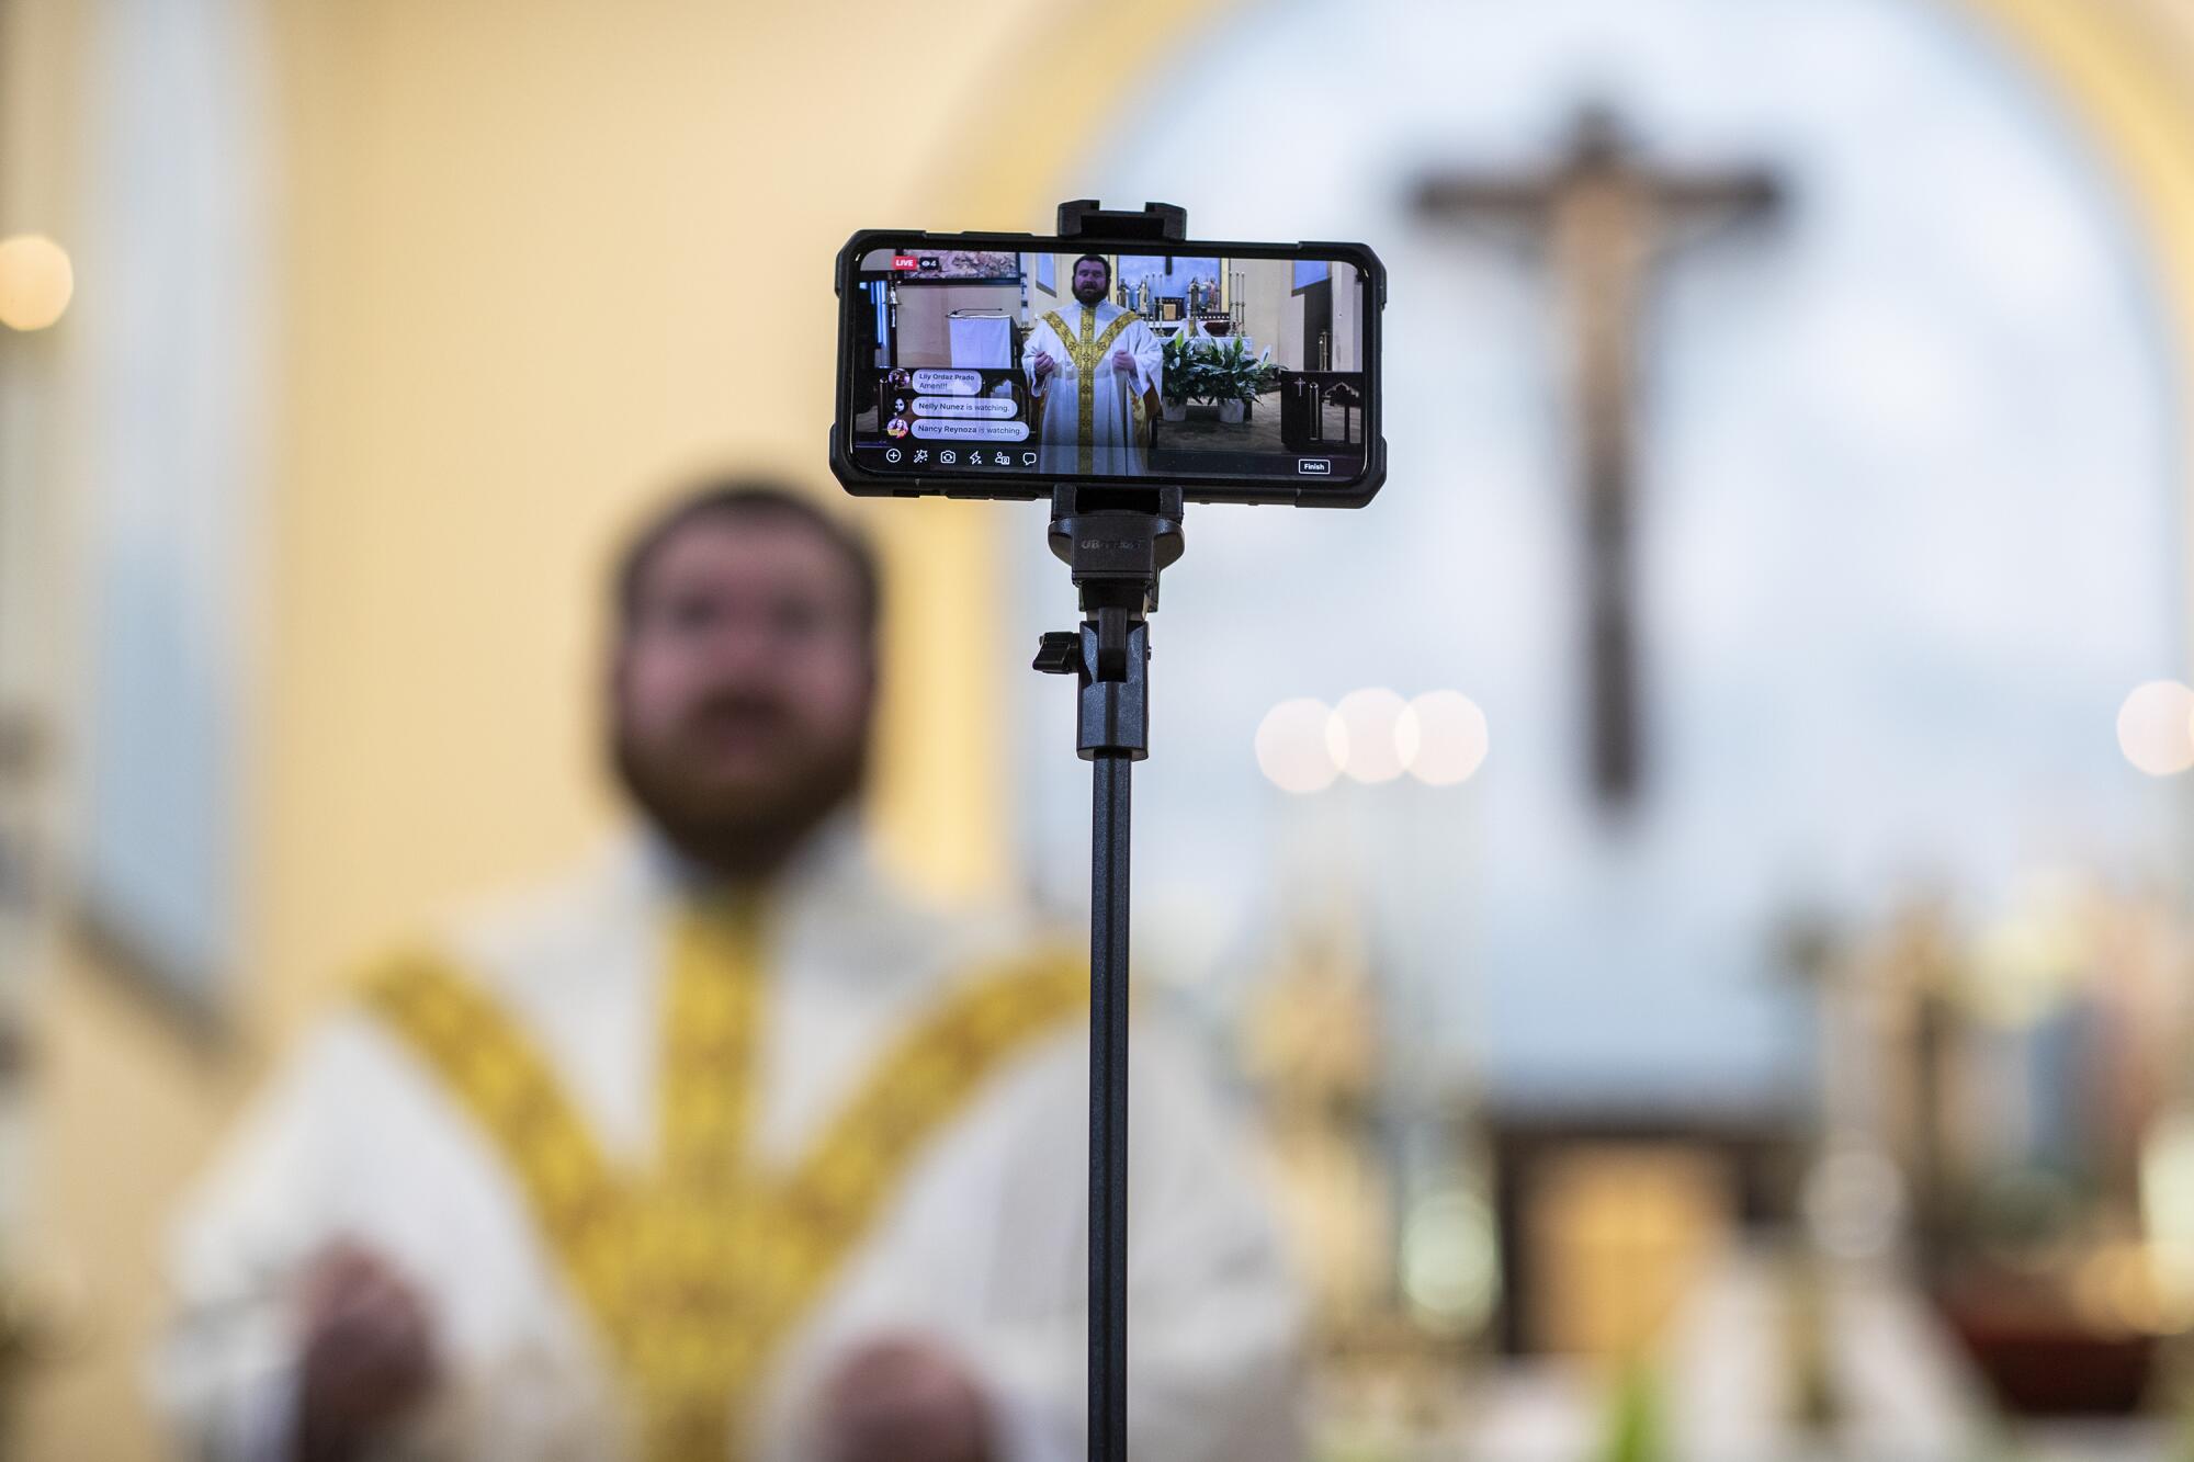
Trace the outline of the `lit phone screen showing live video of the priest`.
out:
[[[867,252],[853,285],[864,468],[1334,481],[1362,468],[1354,263],[908,246]]]

